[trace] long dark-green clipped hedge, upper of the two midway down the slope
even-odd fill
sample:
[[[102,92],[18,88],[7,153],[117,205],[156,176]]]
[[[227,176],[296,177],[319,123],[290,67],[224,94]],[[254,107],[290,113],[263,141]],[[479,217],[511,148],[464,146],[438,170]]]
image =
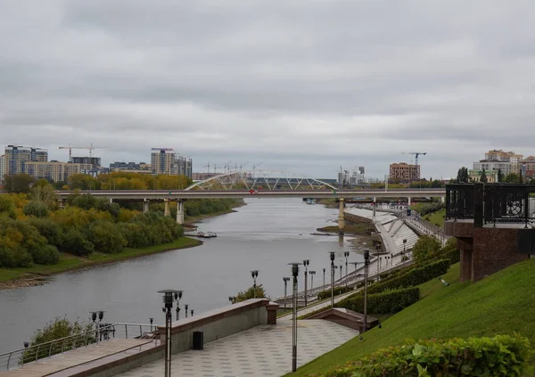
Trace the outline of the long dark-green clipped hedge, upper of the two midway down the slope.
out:
[[[420,285],[435,277],[446,274],[448,269],[449,259],[442,259],[428,265],[412,268],[406,274],[397,275],[385,282],[379,282],[368,287],[368,294]]]

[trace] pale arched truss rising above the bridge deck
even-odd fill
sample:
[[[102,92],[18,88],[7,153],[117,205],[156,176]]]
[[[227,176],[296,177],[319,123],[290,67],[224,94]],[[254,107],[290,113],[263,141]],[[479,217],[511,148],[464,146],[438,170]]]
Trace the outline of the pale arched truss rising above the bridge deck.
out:
[[[307,176],[289,176],[284,170],[247,170],[235,171],[212,176],[187,187],[191,190],[269,190],[275,191],[284,187],[289,190],[336,190],[332,184]]]

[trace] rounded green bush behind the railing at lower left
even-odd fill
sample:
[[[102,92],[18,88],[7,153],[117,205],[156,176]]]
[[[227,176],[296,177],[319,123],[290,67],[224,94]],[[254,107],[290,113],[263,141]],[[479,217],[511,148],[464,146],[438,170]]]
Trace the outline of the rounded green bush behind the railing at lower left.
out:
[[[36,359],[48,357],[49,353],[51,355],[56,355],[75,347],[81,347],[87,343],[95,343],[96,340],[92,330],[93,324],[91,323],[83,323],[78,320],[70,322],[66,318],[57,317],[52,322],[45,324],[43,329],[38,329],[34,332],[29,341],[29,348],[21,355],[21,363],[25,364],[33,362]],[[73,338],[72,341],[62,343],[61,345],[58,345],[58,347],[33,347],[48,341],[58,340],[77,334],[79,334],[79,339],[78,337]]]

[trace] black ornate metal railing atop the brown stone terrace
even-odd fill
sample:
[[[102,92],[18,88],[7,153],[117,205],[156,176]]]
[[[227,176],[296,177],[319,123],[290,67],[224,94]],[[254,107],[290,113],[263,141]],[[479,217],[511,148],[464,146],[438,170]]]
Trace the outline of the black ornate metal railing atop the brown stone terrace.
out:
[[[527,226],[535,220],[533,194],[533,184],[447,184],[446,218]]]

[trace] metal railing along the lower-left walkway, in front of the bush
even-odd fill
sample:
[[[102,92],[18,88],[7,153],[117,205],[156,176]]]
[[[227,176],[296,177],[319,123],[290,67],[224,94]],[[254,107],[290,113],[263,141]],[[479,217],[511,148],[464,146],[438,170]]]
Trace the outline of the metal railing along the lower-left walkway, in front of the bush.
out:
[[[86,332],[78,332],[68,337],[0,354],[0,371],[16,369],[23,364],[53,357],[54,355],[113,338],[155,339],[157,341],[154,342],[154,345],[157,345],[157,328],[158,325],[156,324],[95,324],[95,328]]]

